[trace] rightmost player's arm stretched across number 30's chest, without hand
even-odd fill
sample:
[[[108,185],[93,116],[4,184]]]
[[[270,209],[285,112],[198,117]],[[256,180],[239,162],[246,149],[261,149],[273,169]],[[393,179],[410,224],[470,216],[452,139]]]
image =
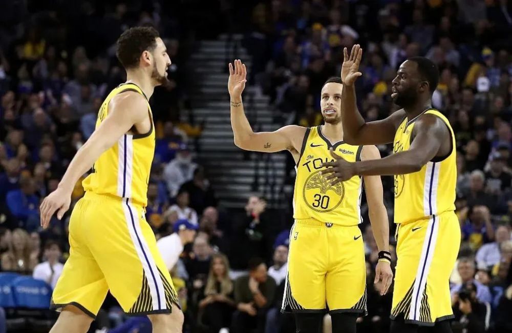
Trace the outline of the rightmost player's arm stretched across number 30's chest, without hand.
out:
[[[392,154],[380,160],[360,161],[354,164],[356,175],[403,175],[420,171],[422,166],[439,153],[444,140],[450,137],[445,123],[437,116],[425,114],[413,129],[415,135],[407,151]]]

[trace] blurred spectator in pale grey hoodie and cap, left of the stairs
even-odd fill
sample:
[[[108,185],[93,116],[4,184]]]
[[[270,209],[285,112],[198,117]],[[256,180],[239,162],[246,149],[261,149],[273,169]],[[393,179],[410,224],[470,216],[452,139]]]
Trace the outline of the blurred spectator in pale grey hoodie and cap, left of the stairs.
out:
[[[163,171],[167,190],[171,197],[176,197],[180,186],[194,177],[196,168],[197,164],[192,161],[192,156],[186,144],[180,144],[176,158],[170,161]]]

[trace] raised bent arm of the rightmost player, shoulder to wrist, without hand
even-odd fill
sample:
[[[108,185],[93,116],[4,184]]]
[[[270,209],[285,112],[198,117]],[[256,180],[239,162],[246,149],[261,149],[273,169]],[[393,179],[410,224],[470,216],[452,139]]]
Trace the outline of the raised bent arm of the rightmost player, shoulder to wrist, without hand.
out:
[[[365,122],[357,110],[354,86],[343,85],[343,139],[349,144],[382,144],[393,142],[400,120],[406,116],[396,111],[386,119]]]

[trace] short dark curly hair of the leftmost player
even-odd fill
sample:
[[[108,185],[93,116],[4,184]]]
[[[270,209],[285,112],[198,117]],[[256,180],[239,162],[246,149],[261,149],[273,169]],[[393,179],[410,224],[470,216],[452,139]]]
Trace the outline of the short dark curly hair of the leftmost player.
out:
[[[125,30],[117,39],[116,56],[124,69],[135,68],[144,51],[153,51],[156,38],[160,37],[153,27],[134,27]]]

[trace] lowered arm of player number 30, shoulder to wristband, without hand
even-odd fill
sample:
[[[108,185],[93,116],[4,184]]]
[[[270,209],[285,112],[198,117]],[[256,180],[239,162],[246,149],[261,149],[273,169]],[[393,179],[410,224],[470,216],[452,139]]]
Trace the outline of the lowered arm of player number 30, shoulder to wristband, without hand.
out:
[[[374,145],[365,145],[361,151],[361,160],[378,160],[380,152]],[[379,251],[389,252],[388,212],[383,202],[382,181],[380,176],[364,176],[366,199],[373,237]]]

